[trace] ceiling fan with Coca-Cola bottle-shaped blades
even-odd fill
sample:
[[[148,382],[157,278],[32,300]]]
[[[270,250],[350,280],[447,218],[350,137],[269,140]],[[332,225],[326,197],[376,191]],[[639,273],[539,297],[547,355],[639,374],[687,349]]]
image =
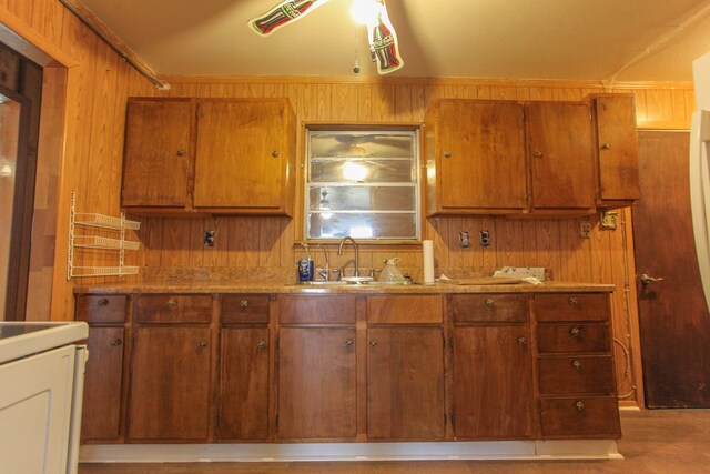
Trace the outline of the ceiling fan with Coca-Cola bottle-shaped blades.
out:
[[[267,37],[286,24],[294,23],[316,8],[331,0],[284,0],[267,12],[248,21],[252,31]],[[373,62],[377,63],[378,74],[388,74],[400,69],[404,60],[399,56],[397,33],[389,20],[385,0],[355,0],[364,11],[364,22],[367,24],[367,41]],[[355,61],[355,73],[359,65]]]

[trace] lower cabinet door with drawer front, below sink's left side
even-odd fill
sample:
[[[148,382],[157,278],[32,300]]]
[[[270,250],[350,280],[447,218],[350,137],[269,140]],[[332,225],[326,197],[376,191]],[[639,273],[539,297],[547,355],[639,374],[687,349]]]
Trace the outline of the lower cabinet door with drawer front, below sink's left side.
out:
[[[355,440],[355,296],[278,299],[281,440]]]

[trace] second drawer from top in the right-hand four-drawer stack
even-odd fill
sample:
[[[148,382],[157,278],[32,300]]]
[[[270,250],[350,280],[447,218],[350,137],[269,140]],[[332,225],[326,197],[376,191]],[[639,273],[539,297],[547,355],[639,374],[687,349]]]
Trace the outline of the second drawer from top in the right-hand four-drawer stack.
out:
[[[545,352],[609,352],[608,324],[538,324],[537,350]]]

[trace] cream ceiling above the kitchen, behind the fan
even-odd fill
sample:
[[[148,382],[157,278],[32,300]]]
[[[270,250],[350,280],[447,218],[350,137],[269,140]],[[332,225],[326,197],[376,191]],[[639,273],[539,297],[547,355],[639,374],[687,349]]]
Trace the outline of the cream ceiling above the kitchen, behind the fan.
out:
[[[353,0],[270,37],[247,21],[280,0],[81,0],[158,74],[376,75]],[[323,1],[323,0],[321,0]],[[386,0],[393,77],[691,81],[710,51],[710,0]]]

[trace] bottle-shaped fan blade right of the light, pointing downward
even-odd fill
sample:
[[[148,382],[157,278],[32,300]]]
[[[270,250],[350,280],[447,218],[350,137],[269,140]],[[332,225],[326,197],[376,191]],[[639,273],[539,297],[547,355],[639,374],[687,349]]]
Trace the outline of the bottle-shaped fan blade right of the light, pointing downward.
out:
[[[389,20],[385,0],[375,0],[376,13],[367,22],[367,39],[373,61],[377,62],[377,73],[388,74],[404,65],[399,54],[397,32]]]

